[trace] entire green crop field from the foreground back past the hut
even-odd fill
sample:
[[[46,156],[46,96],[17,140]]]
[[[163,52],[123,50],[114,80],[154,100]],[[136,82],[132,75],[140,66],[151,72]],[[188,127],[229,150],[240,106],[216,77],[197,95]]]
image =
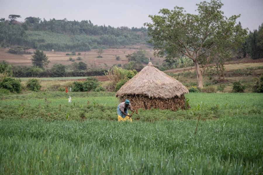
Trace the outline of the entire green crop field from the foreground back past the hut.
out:
[[[191,109],[117,122],[114,93],[2,95],[0,174],[262,174],[263,95],[189,93]],[[197,134],[194,134],[200,115]]]

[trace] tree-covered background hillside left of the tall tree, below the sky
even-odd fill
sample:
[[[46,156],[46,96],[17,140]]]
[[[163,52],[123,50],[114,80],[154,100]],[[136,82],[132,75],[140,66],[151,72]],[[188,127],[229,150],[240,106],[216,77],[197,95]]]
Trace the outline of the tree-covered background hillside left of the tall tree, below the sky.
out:
[[[16,15],[19,17],[19,15]],[[15,18],[16,19],[16,18]],[[0,46],[29,46],[55,51],[88,51],[90,49],[146,43],[144,27],[98,26],[89,20],[67,21],[27,17],[25,22],[0,19]]]

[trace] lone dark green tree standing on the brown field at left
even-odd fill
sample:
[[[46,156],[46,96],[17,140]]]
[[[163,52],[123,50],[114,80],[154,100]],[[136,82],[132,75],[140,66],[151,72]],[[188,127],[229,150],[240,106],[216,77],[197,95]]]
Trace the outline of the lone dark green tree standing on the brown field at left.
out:
[[[44,67],[47,67],[48,64],[49,64],[49,58],[46,56],[46,54],[44,54],[43,51],[40,51],[40,50],[36,50],[36,52],[34,52],[34,55],[32,55],[32,64],[41,68],[41,69],[44,69]]]

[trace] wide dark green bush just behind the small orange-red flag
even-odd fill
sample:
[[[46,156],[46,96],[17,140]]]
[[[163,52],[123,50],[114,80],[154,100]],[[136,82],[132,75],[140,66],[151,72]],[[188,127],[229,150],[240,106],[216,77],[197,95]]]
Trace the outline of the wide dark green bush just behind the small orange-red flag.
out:
[[[97,78],[88,77],[85,81],[74,81],[73,82],[73,92],[86,92],[90,90],[95,90],[100,83]]]

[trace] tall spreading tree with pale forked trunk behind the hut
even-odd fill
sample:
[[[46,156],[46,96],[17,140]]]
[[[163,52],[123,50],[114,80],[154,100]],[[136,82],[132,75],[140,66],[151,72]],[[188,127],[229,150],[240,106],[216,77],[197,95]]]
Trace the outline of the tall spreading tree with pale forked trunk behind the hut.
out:
[[[197,15],[186,13],[182,7],[174,10],[161,9],[162,15],[149,15],[153,23],[146,22],[150,42],[154,44],[155,55],[176,59],[186,55],[195,64],[198,87],[203,88],[203,72],[212,62],[218,48],[224,50],[224,41],[242,41],[246,29],[236,24],[240,15],[225,17],[220,10],[220,0],[200,2]],[[227,46],[228,47],[228,46]]]

